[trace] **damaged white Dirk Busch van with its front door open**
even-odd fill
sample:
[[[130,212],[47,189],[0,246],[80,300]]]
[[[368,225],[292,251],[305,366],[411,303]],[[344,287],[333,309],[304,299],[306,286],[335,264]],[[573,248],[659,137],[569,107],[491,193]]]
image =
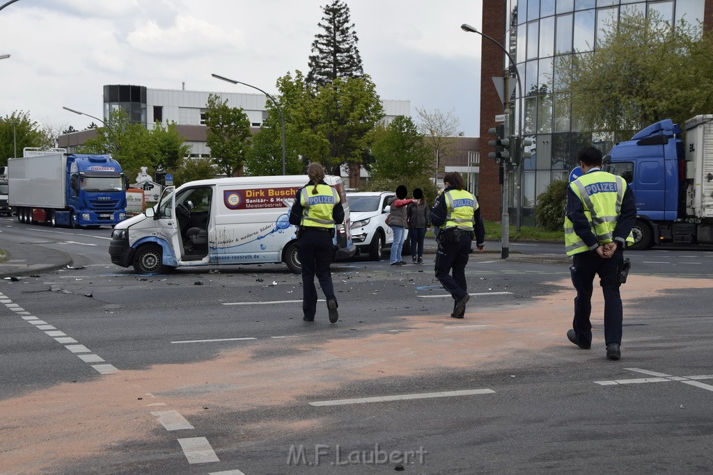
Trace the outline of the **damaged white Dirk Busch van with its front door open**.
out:
[[[324,178],[339,192],[344,224],[336,226],[335,259],[354,256],[349,204],[342,179]],[[297,226],[288,214],[307,175],[205,179],[166,187],[158,204],[120,222],[109,254],[118,266],[157,273],[185,266],[284,262],[299,273]]]

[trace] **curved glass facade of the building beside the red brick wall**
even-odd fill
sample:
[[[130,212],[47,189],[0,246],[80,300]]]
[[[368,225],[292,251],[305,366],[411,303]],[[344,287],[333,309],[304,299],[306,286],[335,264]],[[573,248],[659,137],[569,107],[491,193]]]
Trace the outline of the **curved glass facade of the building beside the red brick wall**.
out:
[[[577,130],[571,115],[570,98],[555,73],[558,61],[593,51],[607,29],[621,16],[631,13],[699,25],[704,19],[705,0],[507,0],[505,38],[515,58],[524,98],[515,90],[511,103],[515,124],[520,123],[524,105],[524,134],[533,142],[532,157],[523,160],[518,178],[523,224],[533,224],[535,198],[555,179],[568,177],[575,154],[583,145],[595,143],[608,151],[611,144],[597,142],[592,133]],[[516,186],[509,197],[517,200]]]

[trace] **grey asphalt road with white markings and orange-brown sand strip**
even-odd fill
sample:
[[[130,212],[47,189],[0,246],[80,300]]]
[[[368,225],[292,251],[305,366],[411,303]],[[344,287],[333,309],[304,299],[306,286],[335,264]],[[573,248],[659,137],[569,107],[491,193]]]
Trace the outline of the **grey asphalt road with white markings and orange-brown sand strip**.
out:
[[[630,252],[622,360],[568,343],[568,265],[473,256],[466,318],[432,266],[332,266],[339,322],[299,276],[138,276],[110,229],[0,220],[73,268],[0,281],[3,473],[709,471],[713,252]],[[1,247],[1,245],[0,245]],[[512,243],[511,253],[558,256]],[[429,256],[426,261],[432,261]],[[380,399],[375,399],[380,398]]]

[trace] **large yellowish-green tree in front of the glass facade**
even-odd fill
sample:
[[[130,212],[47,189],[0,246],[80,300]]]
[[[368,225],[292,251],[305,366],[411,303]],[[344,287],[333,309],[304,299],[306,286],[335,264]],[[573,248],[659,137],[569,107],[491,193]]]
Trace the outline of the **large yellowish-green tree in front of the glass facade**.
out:
[[[683,21],[672,26],[655,11],[606,29],[595,51],[556,63],[576,129],[612,132],[618,141],[665,118],[681,123],[713,110],[710,34]]]

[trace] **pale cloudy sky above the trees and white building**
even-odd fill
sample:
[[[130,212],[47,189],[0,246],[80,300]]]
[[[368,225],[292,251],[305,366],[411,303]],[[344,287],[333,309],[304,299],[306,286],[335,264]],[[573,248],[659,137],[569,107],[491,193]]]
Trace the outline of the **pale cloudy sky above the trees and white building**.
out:
[[[9,0],[0,0],[0,6]],[[277,93],[308,71],[322,6],[332,0],[19,0],[0,11],[0,116],[85,128],[102,116],[102,86]],[[383,99],[453,111],[477,136],[482,0],[346,0],[364,72]]]

